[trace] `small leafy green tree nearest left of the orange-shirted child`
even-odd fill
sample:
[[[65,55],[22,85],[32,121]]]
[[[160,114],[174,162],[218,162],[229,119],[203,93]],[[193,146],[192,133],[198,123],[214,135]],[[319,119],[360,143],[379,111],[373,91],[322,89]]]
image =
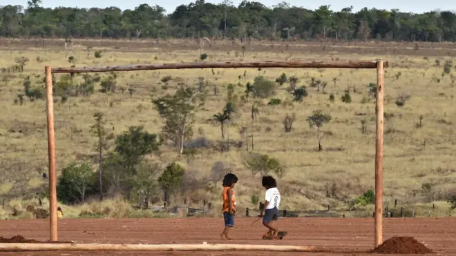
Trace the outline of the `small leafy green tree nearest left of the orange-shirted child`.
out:
[[[172,162],[164,169],[162,175],[158,177],[158,183],[164,192],[164,201],[169,205],[169,195],[175,195],[182,184],[185,170],[179,164]]]

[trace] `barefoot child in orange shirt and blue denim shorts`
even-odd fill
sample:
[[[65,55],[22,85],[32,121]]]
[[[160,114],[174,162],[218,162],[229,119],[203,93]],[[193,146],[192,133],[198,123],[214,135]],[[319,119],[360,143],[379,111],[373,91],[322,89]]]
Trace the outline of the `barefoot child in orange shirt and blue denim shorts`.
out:
[[[234,197],[234,184],[238,182],[238,177],[232,173],[228,173],[223,178],[223,192],[222,192],[222,200],[223,200],[223,219],[225,219],[225,229],[223,229],[222,239],[229,239],[228,232],[229,229],[234,227],[234,215],[236,215],[236,197]]]

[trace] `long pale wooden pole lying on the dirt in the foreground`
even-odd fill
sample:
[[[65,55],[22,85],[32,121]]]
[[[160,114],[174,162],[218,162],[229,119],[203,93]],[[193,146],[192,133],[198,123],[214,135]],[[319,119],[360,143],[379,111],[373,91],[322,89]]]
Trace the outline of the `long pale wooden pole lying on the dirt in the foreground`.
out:
[[[263,244],[0,244],[1,250],[263,250],[310,252],[314,246],[279,246]]]

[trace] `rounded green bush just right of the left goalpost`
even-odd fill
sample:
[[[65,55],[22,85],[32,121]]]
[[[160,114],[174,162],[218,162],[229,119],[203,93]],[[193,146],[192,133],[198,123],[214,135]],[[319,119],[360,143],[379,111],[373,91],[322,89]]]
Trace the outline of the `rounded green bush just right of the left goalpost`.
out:
[[[82,202],[93,191],[93,170],[88,163],[69,164],[61,170],[57,197],[66,203]]]

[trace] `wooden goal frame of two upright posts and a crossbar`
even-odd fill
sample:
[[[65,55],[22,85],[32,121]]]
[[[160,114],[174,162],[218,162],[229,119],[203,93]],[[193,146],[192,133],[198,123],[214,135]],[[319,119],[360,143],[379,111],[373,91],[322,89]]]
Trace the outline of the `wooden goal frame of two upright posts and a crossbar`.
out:
[[[189,69],[189,68],[371,68],[377,69],[377,99],[375,106],[376,113],[376,139],[375,139],[375,220],[374,220],[374,247],[383,243],[383,98],[384,98],[384,68],[388,68],[388,61],[219,61],[219,62],[181,62],[146,65],[126,66],[99,66],[84,68],[53,68],[45,67],[46,72],[46,115],[48,122],[48,157],[49,157],[49,213],[50,213],[50,241],[57,241],[57,177],[55,173],[55,133],[54,133],[54,106],[53,106],[53,73],[80,73],[80,72],[120,72],[137,70],[164,70],[164,69]],[[5,244],[0,244],[3,248]],[[38,244],[21,246],[23,250],[37,250]],[[45,244],[41,244],[41,248]],[[74,246],[74,245],[73,245]],[[100,245],[101,246],[101,245]],[[181,245],[189,246],[189,245]],[[241,250],[242,246],[237,245],[231,248]],[[68,249],[68,246],[47,246],[48,249]],[[78,250],[91,250],[91,244],[78,245]],[[76,248],[72,247],[72,248]],[[100,248],[102,248],[101,246]],[[133,246],[134,247],[134,246]],[[133,248],[130,247],[130,248]],[[158,248],[168,246],[155,246]],[[191,247],[191,246],[190,246]],[[226,246],[208,248],[207,246],[195,247],[195,250],[227,250]],[[123,246],[122,248],[126,248]],[[252,247],[253,248],[253,247]],[[106,249],[106,248],[104,248]],[[308,249],[308,248],[307,248]],[[176,248],[174,248],[176,250]],[[243,248],[243,250],[249,250]],[[272,249],[271,249],[272,250]],[[290,250],[290,249],[289,249]]]

